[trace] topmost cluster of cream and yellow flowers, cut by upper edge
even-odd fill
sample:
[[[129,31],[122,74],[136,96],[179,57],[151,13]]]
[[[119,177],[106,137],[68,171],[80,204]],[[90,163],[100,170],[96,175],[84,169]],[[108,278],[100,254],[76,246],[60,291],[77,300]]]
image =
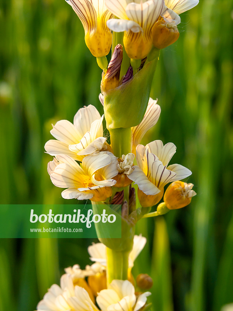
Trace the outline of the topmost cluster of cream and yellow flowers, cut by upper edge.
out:
[[[182,12],[199,0],[66,0],[80,18],[85,42],[101,58],[112,44],[112,33],[124,32],[124,46],[130,58],[145,58],[152,46],[163,49],[179,38],[177,25]],[[116,16],[116,18],[112,18]]]

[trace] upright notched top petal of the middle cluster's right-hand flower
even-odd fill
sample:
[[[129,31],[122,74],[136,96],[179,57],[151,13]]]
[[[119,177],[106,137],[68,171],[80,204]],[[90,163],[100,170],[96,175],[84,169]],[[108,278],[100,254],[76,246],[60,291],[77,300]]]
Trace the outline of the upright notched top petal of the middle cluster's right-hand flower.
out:
[[[176,152],[176,146],[172,142],[168,142],[163,146],[161,140],[155,140],[146,145],[146,149],[158,157],[164,166],[167,167],[172,156]]]

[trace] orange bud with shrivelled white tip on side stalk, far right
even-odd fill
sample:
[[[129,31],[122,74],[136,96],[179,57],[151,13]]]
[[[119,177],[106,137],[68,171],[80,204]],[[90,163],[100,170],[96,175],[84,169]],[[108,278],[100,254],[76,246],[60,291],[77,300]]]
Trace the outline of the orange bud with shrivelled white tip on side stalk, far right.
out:
[[[174,181],[167,188],[163,200],[169,210],[175,210],[190,204],[192,197],[196,195],[192,183]]]

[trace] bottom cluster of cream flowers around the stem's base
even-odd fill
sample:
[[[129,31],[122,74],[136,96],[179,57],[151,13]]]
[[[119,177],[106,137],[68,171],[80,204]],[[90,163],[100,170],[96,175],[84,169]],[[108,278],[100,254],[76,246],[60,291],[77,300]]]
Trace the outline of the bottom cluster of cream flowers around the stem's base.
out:
[[[134,236],[133,249],[129,255],[130,271],[145,243],[144,237]],[[135,292],[134,285],[128,280],[113,280],[107,286],[106,246],[102,243],[92,244],[88,252],[94,263],[87,265],[84,270],[79,265],[66,268],[60,286],[53,284],[50,287],[37,305],[37,310],[109,311],[118,310],[119,307],[124,311],[141,309],[150,293]]]

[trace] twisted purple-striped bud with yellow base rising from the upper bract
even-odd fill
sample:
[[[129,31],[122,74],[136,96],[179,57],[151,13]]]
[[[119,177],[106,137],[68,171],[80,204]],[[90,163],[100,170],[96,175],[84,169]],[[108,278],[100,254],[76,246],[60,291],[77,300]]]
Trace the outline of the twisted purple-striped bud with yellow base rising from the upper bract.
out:
[[[117,44],[108,64],[107,72],[101,81],[102,91],[106,92],[119,86],[122,59],[123,47],[121,44]]]

